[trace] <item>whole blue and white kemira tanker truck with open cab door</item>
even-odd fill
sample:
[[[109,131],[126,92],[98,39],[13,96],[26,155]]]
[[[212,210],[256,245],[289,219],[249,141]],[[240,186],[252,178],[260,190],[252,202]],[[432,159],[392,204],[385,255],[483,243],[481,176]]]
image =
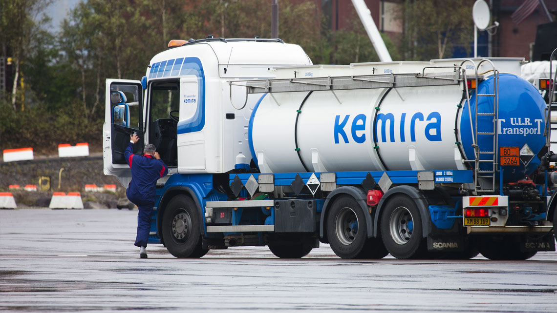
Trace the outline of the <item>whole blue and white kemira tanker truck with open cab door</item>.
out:
[[[104,173],[157,147],[150,243],[524,260],[555,251],[552,125],[522,58],[313,65],[280,39],[171,41],[106,80]],[[552,179],[552,177],[554,179]]]

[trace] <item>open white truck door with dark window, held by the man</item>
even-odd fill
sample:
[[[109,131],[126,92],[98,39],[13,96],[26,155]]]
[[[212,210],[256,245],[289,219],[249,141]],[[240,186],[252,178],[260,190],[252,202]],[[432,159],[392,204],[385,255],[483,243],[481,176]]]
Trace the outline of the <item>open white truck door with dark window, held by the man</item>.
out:
[[[105,122],[102,127],[102,150],[105,175],[114,175],[124,187],[131,181],[131,171],[124,158],[130,135],[137,133],[139,141],[134,153],[141,154],[144,146],[143,88],[140,81],[106,80]]]

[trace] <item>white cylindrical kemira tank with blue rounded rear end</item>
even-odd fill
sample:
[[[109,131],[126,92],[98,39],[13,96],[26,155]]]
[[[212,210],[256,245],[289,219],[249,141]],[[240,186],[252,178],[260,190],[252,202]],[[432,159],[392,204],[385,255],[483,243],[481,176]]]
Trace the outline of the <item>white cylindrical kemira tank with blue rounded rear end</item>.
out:
[[[478,86],[480,94],[493,90],[492,77]],[[492,113],[493,99],[479,97],[478,112]],[[475,128],[473,93],[470,106]],[[499,147],[526,151],[527,145],[537,155],[545,145],[545,107],[534,86],[501,74]],[[479,132],[492,132],[493,116],[478,116],[478,125]],[[474,159],[468,105],[458,85],[263,95],[248,132],[262,172],[458,170],[467,168],[462,160]],[[492,151],[493,138],[479,135],[480,150]],[[505,168],[504,180],[534,171],[539,158],[527,158]]]

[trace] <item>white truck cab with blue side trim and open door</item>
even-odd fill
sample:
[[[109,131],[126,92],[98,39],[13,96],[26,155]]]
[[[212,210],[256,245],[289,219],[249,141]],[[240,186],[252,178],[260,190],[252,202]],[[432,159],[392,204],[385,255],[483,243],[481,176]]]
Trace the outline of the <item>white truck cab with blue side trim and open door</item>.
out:
[[[248,122],[261,96],[228,82],[274,78],[271,67],[308,64],[300,46],[280,39],[171,41],[151,59],[142,81],[106,80],[104,173],[127,187],[124,150],[134,132],[140,137],[134,152],[153,143],[170,173],[248,168]]]

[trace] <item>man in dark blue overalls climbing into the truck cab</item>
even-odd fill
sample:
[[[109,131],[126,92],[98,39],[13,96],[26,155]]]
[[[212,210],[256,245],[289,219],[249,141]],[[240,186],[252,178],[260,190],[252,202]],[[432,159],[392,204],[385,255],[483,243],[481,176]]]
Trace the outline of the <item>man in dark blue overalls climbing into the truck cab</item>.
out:
[[[138,206],[138,234],[135,246],[139,247],[141,259],[147,257],[145,247],[151,228],[151,214],[155,205],[157,180],[168,174],[168,167],[160,160],[155,146],[148,143],[143,149],[143,156],[134,155],[134,144],[139,141],[135,133],[130,135],[130,143],[124,152],[126,162],[131,168],[131,182],[126,190],[128,200]]]

